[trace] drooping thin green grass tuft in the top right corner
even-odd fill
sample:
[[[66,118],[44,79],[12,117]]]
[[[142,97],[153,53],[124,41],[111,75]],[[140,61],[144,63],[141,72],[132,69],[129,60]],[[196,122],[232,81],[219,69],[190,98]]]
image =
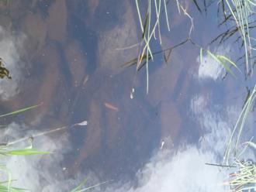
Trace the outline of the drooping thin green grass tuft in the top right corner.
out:
[[[230,39],[231,36],[239,33],[238,37],[235,39],[235,42],[241,42],[241,46],[244,46],[244,63],[246,74],[252,74],[254,67],[254,55],[253,51],[255,50],[254,41],[255,36],[252,36],[251,30],[255,26],[255,0],[220,0],[218,2],[219,10],[223,12],[223,22],[220,22],[220,26],[224,23],[227,23],[228,26],[231,25],[225,32],[220,33],[212,40],[211,43],[219,39],[220,43],[225,42],[227,39]]]

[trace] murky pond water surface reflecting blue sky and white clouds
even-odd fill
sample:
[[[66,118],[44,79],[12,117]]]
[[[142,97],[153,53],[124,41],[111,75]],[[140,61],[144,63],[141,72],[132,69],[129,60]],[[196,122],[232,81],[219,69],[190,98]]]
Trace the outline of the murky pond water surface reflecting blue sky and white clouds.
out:
[[[251,82],[241,84],[244,77],[238,73],[237,79],[228,75],[223,81],[223,68],[207,56],[199,66],[199,50],[186,43],[171,53],[167,65],[161,55],[150,63],[146,95],[144,69],[135,77],[133,67],[120,67],[137,57],[137,50],[116,50],[137,42],[133,3],[57,0],[2,6],[0,53],[14,76],[12,83],[0,82],[2,113],[43,101],[38,109],[2,120],[11,123],[2,132],[15,139],[88,121],[86,128],[35,139],[37,148],[53,155],[12,157],[13,178],[24,176],[17,184],[32,191],[60,186],[65,191],[88,177],[88,185],[113,179],[106,191],[223,190],[223,172],[204,163],[220,161],[243,105],[244,84]],[[163,29],[163,49],[189,31],[189,19],[174,5],[169,8],[171,33]],[[189,11],[198,18],[192,38],[206,46],[217,34],[214,10],[207,16]],[[237,51],[228,43],[209,48],[230,57]],[[6,89],[9,84],[17,89]]]

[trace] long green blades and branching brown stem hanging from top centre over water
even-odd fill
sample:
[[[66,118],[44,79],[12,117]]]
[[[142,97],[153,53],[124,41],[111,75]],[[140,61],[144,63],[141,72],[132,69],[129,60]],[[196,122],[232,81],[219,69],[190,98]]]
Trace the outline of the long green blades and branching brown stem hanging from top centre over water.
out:
[[[139,1],[136,0],[135,2],[136,2],[136,6],[137,6],[138,19],[140,22],[140,29],[141,29],[141,33],[142,33],[141,42],[136,44],[135,46],[140,45],[140,52],[136,58],[133,58],[133,59],[129,60],[128,62],[124,63],[123,66],[129,67],[129,66],[136,65],[137,70],[140,70],[142,67],[146,66],[147,93],[148,93],[148,89],[149,89],[149,74],[148,74],[149,61],[154,61],[154,56],[156,54],[163,53],[164,61],[167,63],[169,57],[171,56],[171,51],[174,50],[175,48],[177,48],[178,46],[182,46],[185,43],[192,43],[194,46],[198,47],[200,49],[200,57],[202,57],[202,50],[206,51],[206,53],[210,57],[213,57],[214,60],[216,60],[221,65],[223,65],[223,67],[227,70],[227,72],[234,75],[233,71],[230,70],[229,64],[232,65],[233,67],[236,67],[237,69],[238,69],[238,67],[232,60],[230,60],[229,58],[227,58],[223,55],[212,53],[209,50],[202,49],[202,46],[200,46],[198,43],[195,43],[195,41],[191,39],[191,33],[192,33],[192,30],[194,29],[193,18],[191,15],[189,15],[189,13],[187,12],[187,9],[185,9],[185,7],[178,0],[176,0],[178,13],[180,15],[181,14],[185,15],[187,18],[189,18],[189,20],[191,22],[188,36],[185,40],[181,41],[181,43],[178,43],[175,46],[171,46],[165,50],[153,52],[153,50],[150,48],[150,42],[153,39],[153,36],[154,36],[154,39],[157,39],[156,33],[158,34],[159,43],[161,44],[161,30],[160,30],[161,12],[163,12],[165,15],[165,20],[167,23],[166,25],[168,27],[168,31],[170,31],[170,26],[169,26],[169,22],[168,22],[168,9],[167,9],[167,5],[168,5],[169,1],[147,0],[147,12],[146,12],[146,15],[144,16],[144,19],[142,19],[143,17],[142,17],[142,12],[140,11]],[[197,2],[196,0],[193,0],[193,3],[195,5],[195,7],[199,10],[199,12],[202,13],[202,9],[200,9],[200,6],[199,6],[199,2]],[[211,2],[211,1],[209,1],[209,3],[206,3],[206,0],[203,1],[205,12],[206,12],[206,9],[209,7],[209,5],[211,5],[212,3],[213,2]],[[161,10],[161,4],[163,4],[162,6],[164,7],[162,10]],[[130,49],[133,47],[134,46],[126,47],[126,49]]]

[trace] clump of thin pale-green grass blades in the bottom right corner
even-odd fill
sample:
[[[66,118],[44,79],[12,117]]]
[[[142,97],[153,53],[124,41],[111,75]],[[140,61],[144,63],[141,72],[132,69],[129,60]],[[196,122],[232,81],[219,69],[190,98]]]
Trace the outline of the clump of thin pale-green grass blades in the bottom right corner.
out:
[[[227,143],[227,149],[223,156],[224,164],[227,166],[237,167],[237,171],[230,174],[230,180],[228,181],[231,189],[236,192],[256,190],[256,164],[253,161],[249,163],[248,161],[244,162],[244,160],[240,159],[249,146],[256,149],[256,144],[252,142],[253,137],[248,142],[240,142],[247,115],[251,111],[255,98],[256,84],[252,91],[249,91],[249,95],[247,96],[244,107],[240,112],[233,132],[230,135],[230,139]]]

